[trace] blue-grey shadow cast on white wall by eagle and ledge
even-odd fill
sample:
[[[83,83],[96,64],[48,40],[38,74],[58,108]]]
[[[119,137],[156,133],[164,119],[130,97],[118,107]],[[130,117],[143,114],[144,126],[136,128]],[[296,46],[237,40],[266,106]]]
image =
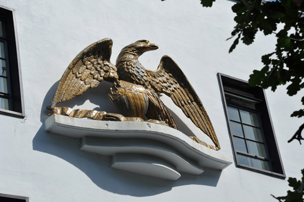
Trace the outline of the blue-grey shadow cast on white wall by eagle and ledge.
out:
[[[105,83],[105,82],[104,82]],[[101,189],[123,195],[131,196],[150,196],[163,192],[170,191],[172,187],[182,186],[187,184],[197,184],[203,186],[216,186],[219,180],[221,171],[204,169],[202,175],[195,176],[189,174],[182,174],[177,181],[168,181],[149,176],[138,175],[126,171],[111,169],[109,166],[110,157],[102,156],[94,153],[89,153],[80,150],[80,140],[75,138],[54,135],[45,131],[45,119],[48,117],[46,106],[51,104],[52,97],[56,90],[58,82],[55,83],[45,96],[42,109],[41,109],[41,122],[42,127],[33,138],[33,150],[48,153],[58,156],[68,163],[72,164],[83,173],[85,173],[98,187]],[[108,92],[111,84],[100,85],[99,87],[88,90],[85,96],[73,99],[72,102],[64,103],[64,106],[73,108],[75,105],[80,106],[90,98],[90,102],[98,105],[96,110],[104,110],[110,112],[115,110],[110,101],[105,101],[99,96],[105,91]],[[104,90],[105,89],[105,90]],[[107,98],[107,97],[106,97]],[[102,105],[102,107],[100,107]],[[106,110],[105,110],[106,109]]]

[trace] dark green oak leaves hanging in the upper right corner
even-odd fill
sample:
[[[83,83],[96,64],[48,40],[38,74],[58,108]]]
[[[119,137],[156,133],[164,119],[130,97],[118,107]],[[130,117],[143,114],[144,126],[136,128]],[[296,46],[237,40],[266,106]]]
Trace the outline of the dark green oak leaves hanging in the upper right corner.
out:
[[[203,7],[211,7],[215,0],[200,0]],[[302,2],[302,3],[300,3]],[[293,96],[304,88],[304,1],[281,0],[241,0],[232,7],[236,14],[237,25],[230,38],[236,37],[229,52],[239,41],[250,45],[255,35],[262,31],[264,35],[275,34],[277,37],[274,52],[262,56],[263,68],[254,70],[250,75],[249,85],[271,87],[287,84],[287,94]],[[281,27],[281,28],[279,28]],[[229,38],[229,39],[230,39]],[[304,105],[304,97],[301,99]],[[304,109],[294,111],[291,116],[304,116]],[[301,132],[304,124],[288,141],[304,140]]]

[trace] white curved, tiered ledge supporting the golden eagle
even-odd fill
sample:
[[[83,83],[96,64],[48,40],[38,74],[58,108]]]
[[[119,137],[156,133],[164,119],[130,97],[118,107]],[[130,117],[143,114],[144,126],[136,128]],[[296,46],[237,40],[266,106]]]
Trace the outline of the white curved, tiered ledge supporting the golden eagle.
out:
[[[53,114],[46,119],[45,127],[54,134],[82,139],[82,150],[112,156],[112,168],[169,180],[180,177],[178,171],[199,175],[203,168],[223,170],[233,161],[231,155],[205,147],[173,128],[153,123]],[[146,161],[139,155],[146,156]]]

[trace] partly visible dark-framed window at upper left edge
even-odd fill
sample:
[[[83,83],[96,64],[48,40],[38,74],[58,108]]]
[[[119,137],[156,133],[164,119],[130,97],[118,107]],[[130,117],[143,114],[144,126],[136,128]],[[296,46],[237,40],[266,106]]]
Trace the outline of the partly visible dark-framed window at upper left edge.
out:
[[[0,6],[0,113],[24,117],[13,11]]]

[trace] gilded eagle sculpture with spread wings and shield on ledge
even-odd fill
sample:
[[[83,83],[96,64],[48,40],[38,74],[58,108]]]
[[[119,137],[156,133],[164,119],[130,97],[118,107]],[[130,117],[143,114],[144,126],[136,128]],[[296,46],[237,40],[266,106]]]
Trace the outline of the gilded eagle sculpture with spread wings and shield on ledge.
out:
[[[74,117],[98,115],[105,116],[107,120],[123,120],[124,116],[141,119],[145,115],[147,118],[155,119],[155,123],[165,123],[177,129],[174,118],[159,97],[159,94],[163,93],[209,136],[215,146],[193,138],[195,141],[215,150],[220,149],[209,116],[178,65],[167,55],[162,57],[156,71],[145,69],[138,61],[139,56],[144,52],[158,49],[158,45],[146,40],[130,44],[122,49],[114,65],[110,62],[112,44],[110,38],[104,38],[85,48],[73,59],[60,79],[52,105],[48,108],[52,110],[50,114]],[[93,110],[56,107],[60,102],[71,100],[82,95],[89,88],[97,87],[102,80],[113,83],[108,95],[123,116]],[[124,120],[130,120],[128,117]]]

